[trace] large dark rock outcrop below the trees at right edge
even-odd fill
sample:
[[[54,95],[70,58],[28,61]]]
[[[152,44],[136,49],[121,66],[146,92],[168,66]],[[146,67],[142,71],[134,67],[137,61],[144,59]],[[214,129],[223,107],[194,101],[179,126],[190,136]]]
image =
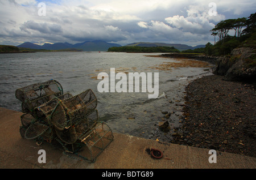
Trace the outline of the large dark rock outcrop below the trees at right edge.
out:
[[[229,56],[220,57],[215,74],[226,80],[251,81],[256,78],[255,52],[251,48],[233,49]]]

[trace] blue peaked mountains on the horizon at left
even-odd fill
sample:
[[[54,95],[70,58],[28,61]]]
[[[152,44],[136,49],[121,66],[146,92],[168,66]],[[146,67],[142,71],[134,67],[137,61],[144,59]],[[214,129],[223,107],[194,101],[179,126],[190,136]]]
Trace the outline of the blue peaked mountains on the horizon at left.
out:
[[[18,48],[31,48],[31,49],[46,49],[46,50],[60,50],[68,48],[82,49],[84,51],[106,51],[112,47],[119,47],[121,45],[108,43],[105,41],[85,41],[77,44],[70,44],[68,42],[57,42],[55,44],[46,43],[42,46],[33,44],[31,42],[24,42],[23,44],[18,45]]]

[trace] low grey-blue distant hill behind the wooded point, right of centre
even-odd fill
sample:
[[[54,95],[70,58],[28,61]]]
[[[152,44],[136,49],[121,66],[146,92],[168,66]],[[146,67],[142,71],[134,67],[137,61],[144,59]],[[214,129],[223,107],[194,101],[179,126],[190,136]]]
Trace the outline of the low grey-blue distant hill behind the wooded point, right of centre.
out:
[[[197,45],[195,47],[193,46],[188,46],[185,44],[167,44],[167,43],[162,43],[162,42],[134,42],[132,44],[127,44],[126,46],[143,46],[143,47],[157,47],[157,46],[174,46],[174,48],[183,51],[187,49],[196,49],[196,48],[204,48],[205,45]]]

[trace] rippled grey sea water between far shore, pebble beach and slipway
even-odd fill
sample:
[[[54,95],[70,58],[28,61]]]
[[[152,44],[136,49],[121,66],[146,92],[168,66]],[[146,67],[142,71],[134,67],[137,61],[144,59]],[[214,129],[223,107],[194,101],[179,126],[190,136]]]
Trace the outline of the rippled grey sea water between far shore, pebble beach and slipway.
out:
[[[113,132],[147,139],[164,140],[180,126],[184,88],[196,78],[211,75],[208,63],[192,59],[157,57],[162,53],[54,52],[0,54],[0,106],[21,111],[15,91],[30,84],[57,80],[64,89],[77,95],[92,89],[98,100],[99,121],[108,123]],[[100,72],[159,72],[159,96],[148,92],[98,92]],[[118,82],[118,80],[116,80]],[[152,79],[154,85],[154,79]],[[140,83],[141,84],[141,83]],[[128,83],[127,83],[128,85]],[[135,85],[134,85],[135,86]],[[127,86],[128,88],[128,86]],[[141,88],[140,88],[141,89]],[[162,112],[170,113],[166,118]],[[159,130],[167,120],[169,129]]]

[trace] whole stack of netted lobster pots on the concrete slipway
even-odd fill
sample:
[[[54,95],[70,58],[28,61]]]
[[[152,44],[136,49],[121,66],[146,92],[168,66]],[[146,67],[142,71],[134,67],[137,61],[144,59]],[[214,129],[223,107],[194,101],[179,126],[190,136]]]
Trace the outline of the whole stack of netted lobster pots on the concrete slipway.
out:
[[[97,98],[91,89],[72,96],[56,80],[16,89],[22,102],[20,135],[40,145],[46,141],[69,156],[94,162],[112,142],[112,130],[98,121]]]

